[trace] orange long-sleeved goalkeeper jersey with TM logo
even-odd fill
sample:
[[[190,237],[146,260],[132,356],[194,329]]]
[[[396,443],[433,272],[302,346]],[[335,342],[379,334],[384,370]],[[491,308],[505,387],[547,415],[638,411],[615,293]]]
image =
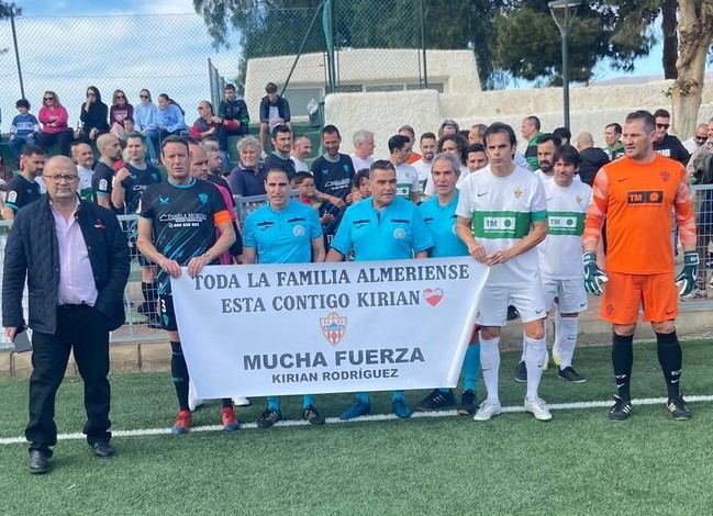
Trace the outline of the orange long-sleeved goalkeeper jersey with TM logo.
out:
[[[683,244],[695,244],[686,169],[656,154],[649,164],[624,157],[602,167],[587,213],[584,245],[597,244],[606,221],[606,270],[658,274],[673,269],[673,212]]]

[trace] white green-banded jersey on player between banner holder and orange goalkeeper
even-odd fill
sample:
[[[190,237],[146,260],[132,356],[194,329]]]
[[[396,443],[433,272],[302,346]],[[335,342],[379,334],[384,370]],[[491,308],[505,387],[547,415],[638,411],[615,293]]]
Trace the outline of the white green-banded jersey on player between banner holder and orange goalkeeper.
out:
[[[537,246],[539,271],[543,278],[569,280],[582,278],[582,233],[592,189],[572,181],[558,187],[545,181],[547,200],[547,237]]]

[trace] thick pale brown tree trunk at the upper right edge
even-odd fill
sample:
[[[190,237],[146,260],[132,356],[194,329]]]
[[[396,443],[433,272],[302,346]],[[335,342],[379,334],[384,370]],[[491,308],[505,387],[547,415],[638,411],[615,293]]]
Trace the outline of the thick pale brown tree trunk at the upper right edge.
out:
[[[713,0],[679,0],[678,78],[670,89],[673,132],[687,137],[695,131],[705,63],[713,41]]]

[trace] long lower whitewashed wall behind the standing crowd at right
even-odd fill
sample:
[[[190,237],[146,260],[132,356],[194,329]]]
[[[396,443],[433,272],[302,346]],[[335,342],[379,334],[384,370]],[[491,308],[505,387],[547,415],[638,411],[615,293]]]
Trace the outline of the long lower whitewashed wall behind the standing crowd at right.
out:
[[[597,145],[603,146],[604,126],[622,123],[627,113],[638,110],[665,108],[670,111],[670,100],[665,92],[670,82],[645,85],[576,87],[570,89],[571,132],[573,135],[589,131]],[[374,131],[376,154],[387,154],[386,142],[396,130],[409,123],[416,133],[435,132],[444,119],[455,119],[467,128],[475,123],[505,122],[517,134],[522,119],[528,114],[539,116],[543,130],[552,131],[562,125],[561,88],[479,91],[472,93],[437,93],[436,91],[400,91],[372,93],[336,93],[325,99],[327,123],[342,131],[345,141],[359,128]],[[701,122],[713,116],[713,87],[703,90],[703,104],[699,112]],[[686,139],[690,135],[683,135]]]

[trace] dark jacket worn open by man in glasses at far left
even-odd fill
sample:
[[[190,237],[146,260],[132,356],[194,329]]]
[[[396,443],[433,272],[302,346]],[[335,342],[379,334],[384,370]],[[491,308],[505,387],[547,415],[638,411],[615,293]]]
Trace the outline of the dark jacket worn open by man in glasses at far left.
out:
[[[129,280],[129,246],[116,216],[91,202],[80,201],[75,215],[87,244],[99,295],[94,309],[107,317],[108,329],[124,324],[124,288]],[[49,199],[23,206],[15,216],[4,255],[2,324],[24,324],[22,292],[27,279],[29,326],[54,334],[57,328],[59,250]]]

